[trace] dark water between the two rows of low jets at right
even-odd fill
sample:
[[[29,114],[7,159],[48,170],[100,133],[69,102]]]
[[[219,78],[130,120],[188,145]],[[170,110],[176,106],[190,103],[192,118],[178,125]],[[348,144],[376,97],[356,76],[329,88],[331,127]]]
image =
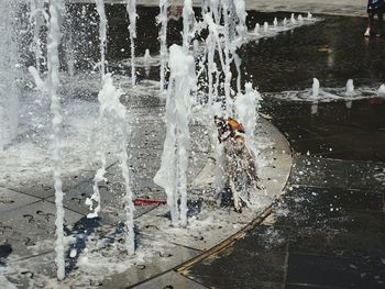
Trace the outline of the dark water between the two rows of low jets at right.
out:
[[[250,25],[256,20],[272,22],[275,15],[250,12]],[[322,19],[315,25],[249,43],[243,48],[246,71],[263,92],[302,90],[311,87],[314,77],[321,87],[343,87],[349,78],[356,86],[384,80],[385,41],[363,37],[365,19],[324,15]]]

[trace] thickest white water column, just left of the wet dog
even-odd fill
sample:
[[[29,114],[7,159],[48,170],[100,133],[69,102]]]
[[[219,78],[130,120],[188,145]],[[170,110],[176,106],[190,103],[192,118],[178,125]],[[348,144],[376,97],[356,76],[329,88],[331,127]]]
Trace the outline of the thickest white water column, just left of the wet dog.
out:
[[[169,86],[166,102],[166,140],[162,165],[154,177],[165,189],[170,208],[172,224],[187,225],[187,164],[191,91],[196,90],[195,59],[178,45],[169,48]],[[180,205],[178,199],[180,198]]]

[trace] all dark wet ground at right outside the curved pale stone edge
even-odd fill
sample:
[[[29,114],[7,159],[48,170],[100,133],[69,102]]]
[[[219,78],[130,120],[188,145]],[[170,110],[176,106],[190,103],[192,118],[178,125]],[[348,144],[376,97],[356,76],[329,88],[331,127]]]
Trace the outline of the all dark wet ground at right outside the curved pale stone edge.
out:
[[[260,21],[260,19],[258,19]],[[245,51],[262,90],[384,81],[384,40],[364,20],[324,18]],[[253,69],[254,68],[254,69]],[[310,104],[265,99],[295,152],[286,194],[232,247],[182,274],[207,288],[385,287],[385,101]]]

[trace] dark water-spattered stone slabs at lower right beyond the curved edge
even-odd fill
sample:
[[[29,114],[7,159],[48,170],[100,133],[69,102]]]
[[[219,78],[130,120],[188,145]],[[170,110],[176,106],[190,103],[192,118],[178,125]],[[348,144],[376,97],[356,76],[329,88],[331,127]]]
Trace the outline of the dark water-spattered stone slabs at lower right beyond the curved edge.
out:
[[[372,184],[365,190],[348,189],[346,182],[304,185],[317,175],[298,164],[317,159],[296,158],[292,180],[295,184],[296,176],[301,176],[297,182],[301,185],[293,184],[261,226],[185,275],[218,288],[383,288],[384,200],[382,193],[372,190],[378,180],[362,176],[362,181]],[[324,180],[333,179],[341,168],[352,167],[351,162],[321,163],[328,164],[322,170]]]

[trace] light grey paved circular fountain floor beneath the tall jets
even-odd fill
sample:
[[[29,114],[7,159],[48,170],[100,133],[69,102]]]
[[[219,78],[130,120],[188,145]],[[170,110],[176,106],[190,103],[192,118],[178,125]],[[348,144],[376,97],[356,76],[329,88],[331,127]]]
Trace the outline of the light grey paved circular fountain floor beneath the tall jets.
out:
[[[143,97],[132,92],[123,102],[130,108],[133,130],[129,147],[132,189],[136,198],[165,200],[163,189],[153,181],[161,164],[165,136],[165,124],[161,121],[164,101],[155,96]],[[162,274],[166,275],[160,277],[160,282],[193,285],[194,281],[172,270],[235,234],[263,212],[265,207],[238,214],[231,208],[220,208],[216,203],[212,191],[215,164],[210,143],[204,137],[205,130],[207,127],[199,123],[191,126],[194,157],[188,170],[191,227],[173,230],[166,205],[138,205],[134,222],[139,255],[133,258],[121,253],[121,244],[124,243],[120,229],[124,220],[124,181],[119,162],[109,162],[105,175],[107,180],[99,184],[102,209],[98,219],[86,218],[89,208],[85,204],[86,198],[94,192],[96,167],[64,174],[65,232],[72,243],[66,249],[67,278],[57,286],[123,288]],[[261,175],[267,189],[267,194],[261,198],[267,207],[283,191],[289,176],[292,156],[286,138],[267,121],[261,120],[258,135],[264,147],[262,157],[268,160]],[[53,248],[56,209],[53,193],[51,179],[38,176],[25,184],[4,179],[1,182],[0,269],[8,282],[20,288],[47,288],[50,282],[55,282]],[[212,221],[205,222],[206,219]],[[73,249],[75,256],[70,256]],[[107,263],[107,269],[110,267],[108,262],[117,263],[118,267],[119,263],[125,264],[127,268],[118,274],[98,268],[92,270],[91,266],[79,269],[79,263],[87,252],[91,255],[86,258]],[[146,262],[142,255],[146,256]]]

